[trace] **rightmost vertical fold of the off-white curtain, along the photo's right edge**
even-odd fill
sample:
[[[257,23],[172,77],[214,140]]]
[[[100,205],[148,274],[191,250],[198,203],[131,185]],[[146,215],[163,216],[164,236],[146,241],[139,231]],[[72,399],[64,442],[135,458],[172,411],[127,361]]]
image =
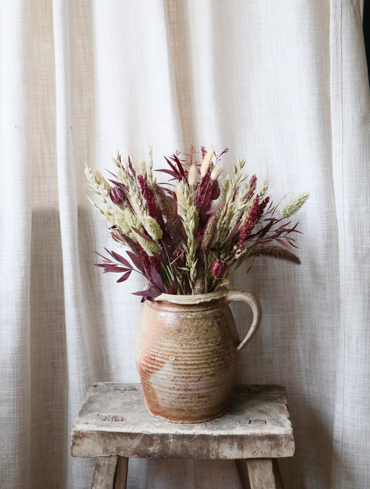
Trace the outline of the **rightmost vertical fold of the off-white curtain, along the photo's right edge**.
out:
[[[369,85],[358,6],[333,3],[331,107],[333,179],[339,234],[340,317],[333,430],[333,487],[366,487],[369,467],[348,456],[369,451]],[[347,49],[351,45],[351,51]],[[353,108],[356,108],[354,111]],[[361,163],[362,162],[362,163]]]

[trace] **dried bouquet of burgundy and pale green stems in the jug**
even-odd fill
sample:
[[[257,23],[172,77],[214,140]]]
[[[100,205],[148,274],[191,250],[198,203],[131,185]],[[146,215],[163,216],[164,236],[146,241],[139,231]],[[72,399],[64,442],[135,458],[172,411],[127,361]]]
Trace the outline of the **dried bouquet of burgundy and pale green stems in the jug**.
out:
[[[113,240],[126,245],[126,258],[115,251],[99,254],[104,272],[121,274],[117,282],[136,271],[148,279],[146,290],[134,292],[144,299],[162,292],[203,294],[228,282],[247,258],[273,256],[300,263],[293,253],[297,224],[289,217],[308,199],[298,195],[280,210],[267,195],[264,180],[257,190],[257,177],[244,172],[237,159],[233,175],[224,175],[221,154],[201,148],[201,162],[194,148],[165,158],[168,167],[158,169],[171,177],[158,183],[153,174],[152,151],[135,169],[128,157],[113,159],[116,171],[106,181],[100,172],[86,167],[90,188],[103,206],[92,204],[108,220]]]

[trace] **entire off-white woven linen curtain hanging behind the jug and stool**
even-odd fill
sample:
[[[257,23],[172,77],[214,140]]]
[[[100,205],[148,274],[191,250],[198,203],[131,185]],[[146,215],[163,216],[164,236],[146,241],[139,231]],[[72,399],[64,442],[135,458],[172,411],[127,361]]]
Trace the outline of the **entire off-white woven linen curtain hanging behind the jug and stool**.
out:
[[[310,191],[303,265],[255,261],[262,326],[239,381],[287,386],[287,489],[370,487],[369,83],[350,0],[0,2],[3,489],[87,488],[69,432],[94,381],[137,381],[138,279],[85,194],[118,147],[230,148],[276,199]],[[243,312],[235,310],[242,329]],[[233,463],[131,461],[128,488],[239,488]]]

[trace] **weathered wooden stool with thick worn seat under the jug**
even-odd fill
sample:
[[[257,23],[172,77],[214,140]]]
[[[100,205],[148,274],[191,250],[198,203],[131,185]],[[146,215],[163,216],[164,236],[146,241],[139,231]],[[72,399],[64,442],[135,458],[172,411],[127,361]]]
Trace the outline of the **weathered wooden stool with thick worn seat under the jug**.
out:
[[[182,424],[151,416],[140,384],[96,383],[72,428],[72,456],[97,457],[92,489],[126,488],[130,457],[234,459],[243,488],[283,489],[276,458],[293,455],[281,386],[236,386],[228,413]]]

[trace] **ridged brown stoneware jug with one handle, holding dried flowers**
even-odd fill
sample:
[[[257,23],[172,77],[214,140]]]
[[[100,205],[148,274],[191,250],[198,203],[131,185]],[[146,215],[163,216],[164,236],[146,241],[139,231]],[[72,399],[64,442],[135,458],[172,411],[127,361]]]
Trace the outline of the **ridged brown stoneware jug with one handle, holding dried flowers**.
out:
[[[242,342],[231,301],[244,301],[253,311]],[[224,414],[239,351],[258,329],[261,316],[252,295],[225,288],[203,295],[162,294],[146,301],[135,336],[135,363],[149,413],[184,423]]]

